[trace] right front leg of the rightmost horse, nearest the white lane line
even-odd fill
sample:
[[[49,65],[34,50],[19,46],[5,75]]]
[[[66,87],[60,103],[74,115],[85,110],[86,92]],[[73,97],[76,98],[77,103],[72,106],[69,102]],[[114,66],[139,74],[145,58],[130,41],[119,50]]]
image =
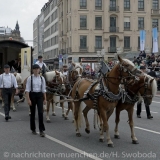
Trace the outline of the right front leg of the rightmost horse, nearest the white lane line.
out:
[[[134,106],[130,107],[128,110],[128,118],[129,118],[129,126],[131,129],[131,138],[133,144],[138,144],[138,139],[136,138],[136,135],[134,133],[134,123],[133,123],[133,112],[134,112]]]

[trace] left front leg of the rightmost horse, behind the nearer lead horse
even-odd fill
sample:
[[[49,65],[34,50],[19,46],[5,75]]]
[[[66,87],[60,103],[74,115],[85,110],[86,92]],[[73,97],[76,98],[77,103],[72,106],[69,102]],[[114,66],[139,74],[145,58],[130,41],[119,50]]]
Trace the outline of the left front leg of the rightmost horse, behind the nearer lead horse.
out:
[[[115,129],[114,129],[114,138],[116,138],[116,139],[119,139],[120,138],[120,136],[119,136],[119,132],[118,132],[118,123],[119,123],[119,121],[120,121],[120,109],[119,109],[119,107],[116,107],[116,118],[115,118],[115,123],[116,123],[116,125],[115,125]]]

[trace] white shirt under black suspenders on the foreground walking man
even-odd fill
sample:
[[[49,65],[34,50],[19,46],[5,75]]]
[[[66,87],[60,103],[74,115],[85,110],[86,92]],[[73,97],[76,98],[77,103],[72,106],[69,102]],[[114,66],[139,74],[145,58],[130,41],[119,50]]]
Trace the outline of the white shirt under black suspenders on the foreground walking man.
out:
[[[32,87],[33,87],[32,92],[45,93],[46,92],[46,81],[45,81],[44,77],[42,77],[42,80],[41,80],[40,75],[38,75],[38,76],[32,75]],[[31,76],[29,76],[27,79],[25,91],[26,92],[31,91]]]

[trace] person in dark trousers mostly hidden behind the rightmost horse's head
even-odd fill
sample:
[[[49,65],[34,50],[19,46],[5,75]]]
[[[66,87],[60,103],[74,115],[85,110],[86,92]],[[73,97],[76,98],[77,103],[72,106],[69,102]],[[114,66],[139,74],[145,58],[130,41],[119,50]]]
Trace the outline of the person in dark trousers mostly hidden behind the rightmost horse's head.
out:
[[[145,66],[140,66],[140,70],[145,73],[146,72]],[[145,107],[146,107],[147,118],[152,119],[153,116],[151,116],[149,105],[145,105]],[[142,101],[137,103],[137,118],[141,118],[141,111],[142,111]]]

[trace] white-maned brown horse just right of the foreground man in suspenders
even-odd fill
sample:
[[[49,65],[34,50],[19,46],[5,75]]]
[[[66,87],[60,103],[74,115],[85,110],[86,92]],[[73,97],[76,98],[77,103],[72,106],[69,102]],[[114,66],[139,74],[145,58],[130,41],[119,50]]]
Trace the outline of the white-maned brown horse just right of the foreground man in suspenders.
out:
[[[66,90],[64,85],[64,75],[58,71],[50,71],[44,74],[46,79],[46,99],[47,99],[47,108],[46,108],[46,120],[50,122],[49,118],[49,109],[50,103],[52,104],[52,116],[56,116],[55,114],[55,106],[58,101],[56,100],[56,94],[63,94]],[[64,114],[64,106],[62,106],[62,115]]]

